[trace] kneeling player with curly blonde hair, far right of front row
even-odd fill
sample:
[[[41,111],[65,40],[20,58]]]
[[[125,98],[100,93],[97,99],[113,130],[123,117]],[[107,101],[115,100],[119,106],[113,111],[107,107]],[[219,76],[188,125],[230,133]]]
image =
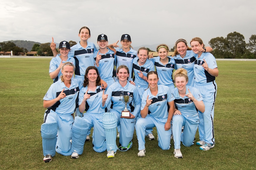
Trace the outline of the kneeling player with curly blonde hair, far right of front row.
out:
[[[187,71],[183,68],[174,72],[173,80],[176,88],[173,90],[175,97],[175,109],[172,120],[172,132],[174,141],[174,156],[183,158],[181,154],[181,142],[184,146],[194,144],[194,138],[199,124],[198,110],[204,112],[203,97],[200,92],[188,86]],[[183,133],[181,129],[184,126]]]

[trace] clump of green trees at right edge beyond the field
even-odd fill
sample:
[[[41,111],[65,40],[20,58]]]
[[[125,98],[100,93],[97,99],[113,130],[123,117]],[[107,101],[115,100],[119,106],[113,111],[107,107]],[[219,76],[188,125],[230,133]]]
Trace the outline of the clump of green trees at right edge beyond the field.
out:
[[[226,38],[212,38],[209,45],[218,59],[256,59],[256,35],[251,35],[249,43],[246,43],[244,35],[233,32],[227,34]]]

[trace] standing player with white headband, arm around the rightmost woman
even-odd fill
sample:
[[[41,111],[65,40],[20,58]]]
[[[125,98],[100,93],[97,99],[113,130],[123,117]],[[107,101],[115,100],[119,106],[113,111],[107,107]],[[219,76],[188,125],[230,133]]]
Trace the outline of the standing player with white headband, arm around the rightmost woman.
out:
[[[175,43],[176,49],[174,50],[173,59],[175,60],[175,69],[184,68],[187,70],[189,78],[188,86],[194,86],[194,64],[196,54],[187,46],[187,41],[184,39],[178,39]],[[199,48],[201,52],[211,52],[211,47]]]

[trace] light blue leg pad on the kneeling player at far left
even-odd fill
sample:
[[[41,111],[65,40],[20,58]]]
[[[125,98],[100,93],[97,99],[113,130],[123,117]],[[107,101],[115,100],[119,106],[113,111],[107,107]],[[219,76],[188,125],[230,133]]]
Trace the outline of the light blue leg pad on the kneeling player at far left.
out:
[[[41,125],[41,136],[42,136],[44,156],[46,156],[47,154],[50,154],[51,156],[55,156],[57,131],[58,131],[57,122],[43,123]]]

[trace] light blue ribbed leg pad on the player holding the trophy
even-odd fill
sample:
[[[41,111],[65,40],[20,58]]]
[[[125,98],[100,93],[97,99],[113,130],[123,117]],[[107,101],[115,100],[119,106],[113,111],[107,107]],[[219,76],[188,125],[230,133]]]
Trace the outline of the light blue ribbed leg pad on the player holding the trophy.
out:
[[[103,128],[105,129],[107,150],[114,150],[116,152],[116,127],[117,119],[115,114],[106,112],[102,116]]]

